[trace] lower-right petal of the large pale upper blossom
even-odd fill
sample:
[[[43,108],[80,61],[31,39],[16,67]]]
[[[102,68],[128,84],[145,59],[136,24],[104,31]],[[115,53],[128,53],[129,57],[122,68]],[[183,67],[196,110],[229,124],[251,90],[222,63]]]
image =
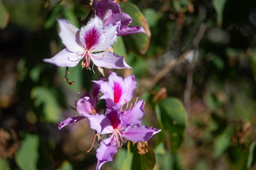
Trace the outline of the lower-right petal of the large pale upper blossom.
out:
[[[90,58],[92,62],[98,66],[103,68],[131,68],[125,61],[124,56],[119,56],[114,52],[100,52],[97,54],[90,54]]]

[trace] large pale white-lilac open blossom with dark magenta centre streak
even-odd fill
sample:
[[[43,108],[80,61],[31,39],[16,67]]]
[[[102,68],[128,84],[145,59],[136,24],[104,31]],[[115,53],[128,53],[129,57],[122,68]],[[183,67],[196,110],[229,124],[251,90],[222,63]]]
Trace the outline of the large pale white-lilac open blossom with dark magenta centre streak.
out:
[[[90,69],[90,60],[94,65],[103,68],[130,68],[124,61],[124,56],[105,51],[113,46],[120,29],[120,22],[112,22],[104,26],[97,16],[92,18],[81,30],[65,19],[58,19],[59,36],[65,49],[50,59],[43,61],[58,67],[74,67],[81,59],[82,67]]]

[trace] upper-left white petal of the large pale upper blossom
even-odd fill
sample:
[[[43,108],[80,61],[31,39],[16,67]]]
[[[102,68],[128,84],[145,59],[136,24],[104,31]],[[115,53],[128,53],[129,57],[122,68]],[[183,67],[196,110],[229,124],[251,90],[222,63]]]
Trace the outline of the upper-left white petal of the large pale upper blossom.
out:
[[[83,52],[83,48],[79,46],[76,41],[76,33],[79,31],[74,25],[72,25],[68,20],[57,19],[62,43],[71,52]]]

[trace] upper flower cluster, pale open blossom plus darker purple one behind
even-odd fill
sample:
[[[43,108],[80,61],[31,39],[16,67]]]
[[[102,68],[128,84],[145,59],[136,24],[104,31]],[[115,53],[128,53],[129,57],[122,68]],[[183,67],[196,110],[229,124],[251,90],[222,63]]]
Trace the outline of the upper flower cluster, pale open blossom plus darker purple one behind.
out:
[[[90,60],[94,65],[103,68],[131,68],[124,56],[119,56],[109,49],[117,36],[133,33],[145,33],[139,26],[128,27],[132,18],[121,13],[118,3],[112,0],[94,0],[95,17],[81,29],[76,28],[65,19],[58,19],[59,36],[65,49],[50,59],[43,61],[58,67],[74,67],[83,59],[82,67],[90,69]]]

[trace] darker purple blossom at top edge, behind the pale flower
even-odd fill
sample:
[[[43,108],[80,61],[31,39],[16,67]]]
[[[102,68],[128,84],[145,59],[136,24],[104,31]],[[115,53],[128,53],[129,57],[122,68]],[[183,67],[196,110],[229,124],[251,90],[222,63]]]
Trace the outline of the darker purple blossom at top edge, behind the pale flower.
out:
[[[104,25],[121,21],[120,33],[117,34],[118,36],[145,33],[142,27],[128,27],[132,22],[132,18],[126,13],[121,13],[120,6],[117,2],[112,0],[101,0],[100,2],[98,0],[94,0],[93,2],[95,6],[95,15],[101,18]]]

